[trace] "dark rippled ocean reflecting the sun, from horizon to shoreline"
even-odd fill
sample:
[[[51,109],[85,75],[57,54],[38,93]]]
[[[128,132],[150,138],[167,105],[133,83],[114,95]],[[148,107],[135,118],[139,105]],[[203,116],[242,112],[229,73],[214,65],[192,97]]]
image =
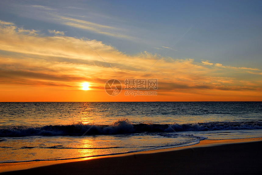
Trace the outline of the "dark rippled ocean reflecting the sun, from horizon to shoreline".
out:
[[[262,102],[3,102],[0,163],[262,137]]]

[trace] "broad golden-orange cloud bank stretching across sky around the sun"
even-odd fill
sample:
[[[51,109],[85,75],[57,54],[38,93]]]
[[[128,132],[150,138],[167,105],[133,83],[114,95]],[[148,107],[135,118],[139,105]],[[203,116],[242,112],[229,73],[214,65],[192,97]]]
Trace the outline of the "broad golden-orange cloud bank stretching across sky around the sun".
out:
[[[1,84],[77,89],[79,82],[87,81],[94,85],[93,89],[103,89],[112,78],[122,82],[126,78],[157,78],[161,92],[261,90],[262,73],[257,68],[163,57],[145,74],[161,55],[129,55],[101,41],[84,38],[96,53],[80,38],[64,36],[57,30],[49,32],[61,35],[45,36],[0,21]]]

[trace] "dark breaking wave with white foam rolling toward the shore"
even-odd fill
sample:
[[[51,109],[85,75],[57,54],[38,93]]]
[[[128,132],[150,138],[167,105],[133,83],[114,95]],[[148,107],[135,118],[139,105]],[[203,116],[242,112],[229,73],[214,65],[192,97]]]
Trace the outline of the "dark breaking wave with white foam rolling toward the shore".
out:
[[[128,119],[120,119],[112,125],[89,125],[83,123],[69,125],[47,125],[31,128],[2,128],[0,137],[56,136],[56,135],[115,135],[142,132],[179,132],[179,131],[214,131],[262,129],[261,121],[245,122],[204,122],[193,124],[132,124]]]

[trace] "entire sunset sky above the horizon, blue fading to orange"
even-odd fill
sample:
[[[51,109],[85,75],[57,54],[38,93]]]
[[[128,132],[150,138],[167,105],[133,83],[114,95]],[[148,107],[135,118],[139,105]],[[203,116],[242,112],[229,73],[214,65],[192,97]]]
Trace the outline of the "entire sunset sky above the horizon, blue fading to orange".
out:
[[[262,101],[261,9],[255,0],[1,0],[0,102]],[[109,79],[119,95],[106,93]],[[126,96],[125,79],[158,79],[157,95]]]

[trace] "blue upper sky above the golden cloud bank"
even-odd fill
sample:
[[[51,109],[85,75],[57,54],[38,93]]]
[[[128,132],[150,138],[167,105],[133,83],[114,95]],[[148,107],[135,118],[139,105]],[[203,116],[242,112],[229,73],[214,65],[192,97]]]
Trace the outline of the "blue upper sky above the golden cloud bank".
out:
[[[25,29],[64,31],[137,54],[167,53],[175,58],[210,60],[227,65],[262,64],[261,1],[1,1],[1,20]],[[69,19],[61,20],[61,16]],[[72,19],[72,20],[70,20]],[[94,23],[77,27],[73,20]],[[83,23],[82,23],[83,24]],[[100,31],[95,25],[103,25]],[[106,28],[111,27],[111,28]]]

